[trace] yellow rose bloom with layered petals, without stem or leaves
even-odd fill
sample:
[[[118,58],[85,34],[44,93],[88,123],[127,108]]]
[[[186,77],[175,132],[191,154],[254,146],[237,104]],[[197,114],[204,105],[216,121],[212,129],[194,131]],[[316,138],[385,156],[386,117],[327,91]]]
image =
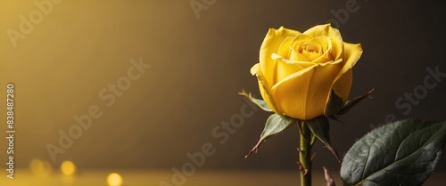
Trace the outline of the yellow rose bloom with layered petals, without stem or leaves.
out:
[[[362,54],[360,44],[343,42],[330,24],[301,33],[270,28],[260,46],[258,77],[263,100],[279,115],[309,120],[324,115],[332,90],[347,101],[351,69]]]

